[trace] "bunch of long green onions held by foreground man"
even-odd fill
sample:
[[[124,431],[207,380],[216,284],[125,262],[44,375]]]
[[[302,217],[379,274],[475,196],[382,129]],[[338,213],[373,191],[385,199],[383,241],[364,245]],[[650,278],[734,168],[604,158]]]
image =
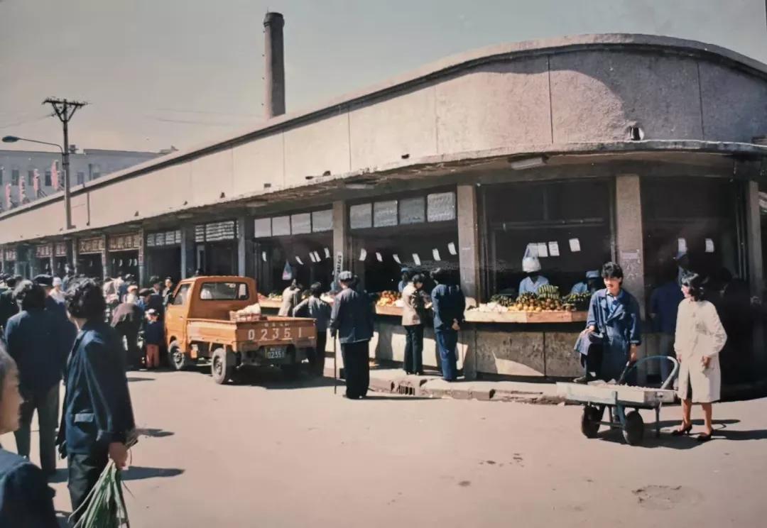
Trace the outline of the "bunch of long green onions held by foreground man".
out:
[[[127,447],[132,448],[136,442],[137,435],[134,432],[127,441]],[[130,528],[128,510],[123,497],[124,484],[120,473],[114,461],[110,460],[91,493],[69,518],[71,522],[74,514],[84,509],[80,520],[77,520],[73,528],[120,528],[121,526]]]

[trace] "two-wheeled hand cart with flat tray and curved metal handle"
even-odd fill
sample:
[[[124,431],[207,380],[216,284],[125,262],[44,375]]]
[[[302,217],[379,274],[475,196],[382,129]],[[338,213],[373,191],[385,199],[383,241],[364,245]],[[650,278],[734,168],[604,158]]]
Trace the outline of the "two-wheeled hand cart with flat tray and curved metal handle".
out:
[[[638,366],[651,359],[667,360],[673,363],[670,376],[660,385],[660,389],[626,385],[624,380]],[[679,362],[670,356],[647,356],[633,364],[628,362],[617,383],[591,382],[557,383],[557,394],[568,402],[584,405],[581,416],[581,432],[586,438],[596,438],[601,425],[611,429],[621,429],[624,440],[630,445],[639,445],[644,440],[644,421],[639,409],[655,411],[655,436],[660,436],[660,408],[664,403],[673,403],[676,392],[670,389],[673,379],[679,372]],[[604,408],[607,407],[610,421],[603,421]],[[633,411],[626,412],[627,408]],[[617,421],[616,421],[617,418]]]

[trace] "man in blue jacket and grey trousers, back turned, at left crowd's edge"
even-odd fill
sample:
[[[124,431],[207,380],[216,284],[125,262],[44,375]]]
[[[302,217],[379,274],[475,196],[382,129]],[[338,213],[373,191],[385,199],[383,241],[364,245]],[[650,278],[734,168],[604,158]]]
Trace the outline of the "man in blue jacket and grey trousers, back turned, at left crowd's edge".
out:
[[[29,457],[32,415],[38,412],[40,429],[40,467],[45,474],[56,471],[56,423],[58,421],[58,385],[64,369],[64,339],[58,315],[45,309],[43,288],[22,280],[15,290],[21,312],[12,316],[5,327],[8,353],[18,365],[21,395],[21,420],[15,431],[16,448]]]

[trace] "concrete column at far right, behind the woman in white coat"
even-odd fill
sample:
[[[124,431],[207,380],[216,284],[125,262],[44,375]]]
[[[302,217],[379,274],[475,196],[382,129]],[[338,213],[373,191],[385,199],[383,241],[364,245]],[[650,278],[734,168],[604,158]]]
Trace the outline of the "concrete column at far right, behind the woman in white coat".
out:
[[[749,261],[749,285],[751,296],[762,298],[764,276],[762,272],[762,222],[759,210],[759,182],[746,183],[746,251]],[[765,350],[765,328],[762,324],[754,325],[752,343],[754,366],[759,372],[767,370],[767,350]]]

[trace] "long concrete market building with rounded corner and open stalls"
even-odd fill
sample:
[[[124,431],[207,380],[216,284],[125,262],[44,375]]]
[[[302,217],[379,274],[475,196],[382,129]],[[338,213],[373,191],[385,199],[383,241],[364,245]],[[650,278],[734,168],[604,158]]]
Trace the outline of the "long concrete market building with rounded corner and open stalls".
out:
[[[304,284],[351,268],[380,291],[400,265],[439,265],[481,303],[518,284],[533,244],[563,293],[615,260],[644,310],[660,264],[686,251],[761,298],[765,133],[767,65],[732,51],[641,34],[504,44],[85,182],[70,230],[61,194],[5,212],[3,264],[33,274],[58,258],[100,276],[130,260],[143,282],[202,268],[264,294],[286,266]],[[381,312],[371,350],[401,360],[397,310]],[[578,313],[467,320],[469,376],[579,371]],[[730,354],[757,372],[761,323],[749,332],[753,347]]]

